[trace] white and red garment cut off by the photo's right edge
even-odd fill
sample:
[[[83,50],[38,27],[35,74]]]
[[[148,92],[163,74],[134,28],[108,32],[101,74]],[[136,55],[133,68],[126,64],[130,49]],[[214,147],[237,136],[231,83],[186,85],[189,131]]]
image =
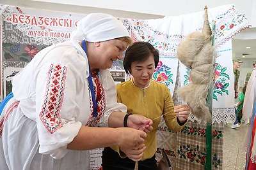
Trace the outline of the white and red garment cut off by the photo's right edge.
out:
[[[244,124],[248,124],[244,136],[246,153],[245,170],[256,169],[256,68],[253,69],[244,96],[243,106]]]

